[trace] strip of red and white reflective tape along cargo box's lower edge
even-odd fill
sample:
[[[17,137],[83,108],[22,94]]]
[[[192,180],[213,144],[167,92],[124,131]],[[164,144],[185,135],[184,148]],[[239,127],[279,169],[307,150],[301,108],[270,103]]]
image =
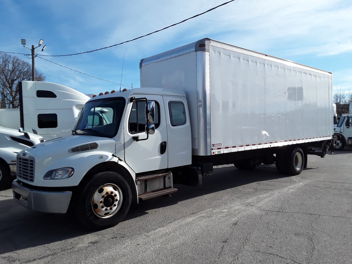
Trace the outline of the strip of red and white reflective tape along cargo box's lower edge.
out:
[[[301,143],[308,143],[308,142],[315,142],[315,141],[329,140],[329,139],[332,139],[332,136],[289,139],[289,140],[263,142],[263,143],[246,144],[246,145],[238,145],[238,146],[226,146],[226,147],[216,147],[216,148],[214,147],[212,148],[212,154],[221,154],[221,153],[236,152],[236,151],[251,150],[251,149],[263,149],[266,147],[278,147],[278,146],[301,144]]]

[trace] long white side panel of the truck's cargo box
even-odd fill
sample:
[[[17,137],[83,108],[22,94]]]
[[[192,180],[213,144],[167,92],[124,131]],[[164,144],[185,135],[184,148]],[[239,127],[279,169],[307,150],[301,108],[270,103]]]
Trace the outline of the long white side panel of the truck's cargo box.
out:
[[[331,136],[331,74],[237,49],[209,47],[212,154]]]

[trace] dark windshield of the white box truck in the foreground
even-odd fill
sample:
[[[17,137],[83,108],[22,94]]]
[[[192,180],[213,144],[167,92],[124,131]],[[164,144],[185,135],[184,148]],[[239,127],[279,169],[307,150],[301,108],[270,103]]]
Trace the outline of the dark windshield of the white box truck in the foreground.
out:
[[[73,134],[112,138],[120,125],[125,99],[103,98],[87,102]]]

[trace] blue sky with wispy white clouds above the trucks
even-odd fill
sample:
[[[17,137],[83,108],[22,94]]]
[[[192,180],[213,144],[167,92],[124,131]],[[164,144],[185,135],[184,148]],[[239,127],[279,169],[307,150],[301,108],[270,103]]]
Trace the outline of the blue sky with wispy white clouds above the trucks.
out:
[[[202,13],[226,0],[0,0],[0,51],[65,55],[118,44]],[[331,71],[334,90],[352,90],[352,1],[236,0],[182,24],[109,49],[36,58],[46,81],[100,93],[139,87],[140,59],[212,38]],[[40,49],[40,48],[38,48]],[[14,54],[12,54],[14,55]],[[17,55],[31,63],[24,55]],[[125,57],[125,58],[124,58]],[[123,71],[122,71],[123,65]],[[122,73],[122,81],[121,81]],[[121,82],[120,82],[121,81]]]

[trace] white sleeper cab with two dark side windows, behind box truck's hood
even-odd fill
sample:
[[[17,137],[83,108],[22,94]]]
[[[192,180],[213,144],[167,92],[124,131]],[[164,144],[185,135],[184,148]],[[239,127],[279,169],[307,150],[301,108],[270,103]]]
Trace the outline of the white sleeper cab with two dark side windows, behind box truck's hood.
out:
[[[0,126],[33,131],[45,140],[67,136],[89,96],[51,82],[19,82],[19,108],[0,109]]]

